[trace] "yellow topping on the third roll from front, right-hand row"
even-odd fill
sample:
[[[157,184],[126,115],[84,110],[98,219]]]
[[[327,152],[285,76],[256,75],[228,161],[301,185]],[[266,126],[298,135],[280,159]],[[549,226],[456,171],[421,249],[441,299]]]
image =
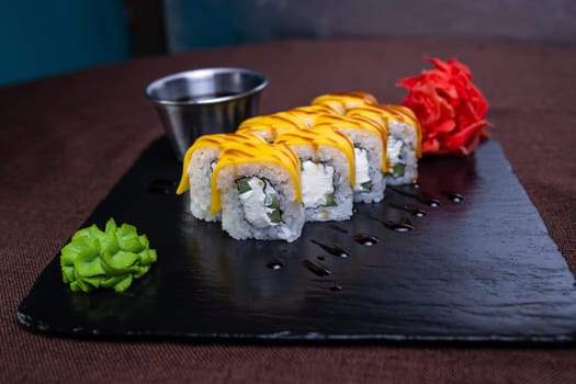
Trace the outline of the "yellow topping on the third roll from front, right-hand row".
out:
[[[341,116],[335,114],[324,114],[316,117],[312,129],[315,129],[317,126],[321,127],[324,125],[329,125],[336,131],[360,129],[379,136],[380,140],[382,142],[382,171],[387,172],[389,170],[389,165],[386,157],[388,129],[383,123],[379,123],[375,120],[371,120],[362,115]]]

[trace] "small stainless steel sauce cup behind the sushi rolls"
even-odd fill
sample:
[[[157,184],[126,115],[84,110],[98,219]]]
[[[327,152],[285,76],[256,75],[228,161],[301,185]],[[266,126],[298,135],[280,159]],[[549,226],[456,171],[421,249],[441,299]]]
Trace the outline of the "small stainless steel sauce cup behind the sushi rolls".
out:
[[[260,92],[268,79],[244,68],[203,68],[173,74],[153,81],[145,95],[156,111],[182,160],[201,135],[234,132],[258,114]]]

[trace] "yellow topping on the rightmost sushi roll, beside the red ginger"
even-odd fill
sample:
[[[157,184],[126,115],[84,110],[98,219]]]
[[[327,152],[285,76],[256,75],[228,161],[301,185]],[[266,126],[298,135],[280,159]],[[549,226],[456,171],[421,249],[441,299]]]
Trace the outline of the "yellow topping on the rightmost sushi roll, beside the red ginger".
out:
[[[420,122],[413,110],[403,105],[361,105],[355,106],[347,112],[350,116],[365,116],[388,126],[389,120],[410,124],[416,129],[416,156],[420,158],[422,128]]]

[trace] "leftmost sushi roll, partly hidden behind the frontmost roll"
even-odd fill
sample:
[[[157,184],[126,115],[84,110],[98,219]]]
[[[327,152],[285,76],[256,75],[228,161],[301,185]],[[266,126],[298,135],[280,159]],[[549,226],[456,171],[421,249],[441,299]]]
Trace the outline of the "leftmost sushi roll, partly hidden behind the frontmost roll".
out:
[[[190,212],[196,218],[217,222],[219,212],[211,213],[211,178],[226,146],[240,143],[266,143],[261,137],[242,134],[214,134],[199,137],[187,150],[178,194],[190,191]]]

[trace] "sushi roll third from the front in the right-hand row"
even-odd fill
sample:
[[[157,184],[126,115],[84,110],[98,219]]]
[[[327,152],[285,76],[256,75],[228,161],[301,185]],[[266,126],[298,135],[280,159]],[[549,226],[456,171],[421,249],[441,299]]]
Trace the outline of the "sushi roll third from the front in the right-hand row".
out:
[[[354,202],[377,203],[384,199],[387,173],[384,125],[362,116],[323,114],[316,117],[312,129],[331,127],[347,135],[354,146]]]

